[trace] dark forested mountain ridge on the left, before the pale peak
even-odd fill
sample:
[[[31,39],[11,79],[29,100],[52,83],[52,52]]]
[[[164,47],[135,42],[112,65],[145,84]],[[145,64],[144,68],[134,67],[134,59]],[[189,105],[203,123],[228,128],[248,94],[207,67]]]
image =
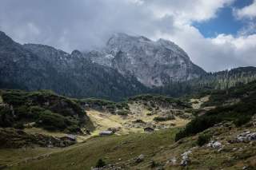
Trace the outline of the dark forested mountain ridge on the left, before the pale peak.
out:
[[[133,76],[90,61],[78,50],[66,53],[47,45],[20,45],[0,32],[0,88],[52,89],[69,97],[121,100],[146,91]]]

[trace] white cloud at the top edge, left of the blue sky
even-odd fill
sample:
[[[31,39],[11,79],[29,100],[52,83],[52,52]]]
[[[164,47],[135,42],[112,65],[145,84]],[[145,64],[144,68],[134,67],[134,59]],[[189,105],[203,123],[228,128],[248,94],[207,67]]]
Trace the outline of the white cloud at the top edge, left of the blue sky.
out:
[[[145,6],[158,17],[166,15],[175,16],[177,22],[203,22],[214,18],[218,10],[224,6],[230,5],[234,0],[144,0]]]

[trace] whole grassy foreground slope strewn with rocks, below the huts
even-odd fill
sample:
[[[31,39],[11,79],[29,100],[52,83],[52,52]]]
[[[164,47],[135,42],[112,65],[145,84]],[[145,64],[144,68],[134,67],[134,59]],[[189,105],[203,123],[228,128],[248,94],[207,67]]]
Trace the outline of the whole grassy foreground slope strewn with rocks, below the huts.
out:
[[[90,169],[99,159],[122,169],[184,169],[182,154],[190,152],[185,169],[255,169],[256,143],[228,141],[255,127],[235,128],[232,124],[207,129],[219,148],[196,144],[198,136],[174,142],[179,128],[122,136],[94,136],[68,148],[30,148],[0,150],[1,162],[13,164],[7,169]],[[143,155],[142,161],[137,161]],[[20,164],[17,164],[20,162]],[[114,169],[114,168],[106,168]]]

